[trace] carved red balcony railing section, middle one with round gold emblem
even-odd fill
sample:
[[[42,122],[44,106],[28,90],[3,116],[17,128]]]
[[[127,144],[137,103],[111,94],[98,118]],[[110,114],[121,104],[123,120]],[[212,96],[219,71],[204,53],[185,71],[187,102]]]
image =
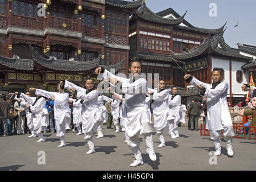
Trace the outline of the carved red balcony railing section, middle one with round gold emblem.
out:
[[[59,18],[55,16],[50,16],[50,27],[63,30],[79,31],[78,20]]]

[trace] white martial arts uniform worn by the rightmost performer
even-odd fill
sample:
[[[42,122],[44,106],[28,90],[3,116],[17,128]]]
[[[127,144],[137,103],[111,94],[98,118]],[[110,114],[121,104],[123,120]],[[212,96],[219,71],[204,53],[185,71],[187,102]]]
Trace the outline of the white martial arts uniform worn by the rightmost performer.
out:
[[[232,148],[232,139],[234,136],[233,124],[230,116],[229,106],[227,105],[227,90],[229,84],[220,82],[214,89],[211,84],[205,84],[192,78],[190,84],[197,88],[197,85],[202,85],[205,89],[206,102],[207,102],[207,121],[206,129],[210,131],[210,137],[214,142],[216,152],[221,154],[221,130],[224,130],[224,137],[227,141],[227,150]]]

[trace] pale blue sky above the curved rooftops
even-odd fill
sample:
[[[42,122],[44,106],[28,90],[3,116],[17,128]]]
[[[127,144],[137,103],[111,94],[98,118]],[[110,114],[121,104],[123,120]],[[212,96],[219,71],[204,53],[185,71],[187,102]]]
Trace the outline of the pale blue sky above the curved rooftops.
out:
[[[210,3],[217,5],[216,17],[209,15]],[[187,10],[187,22],[200,28],[219,28],[227,21],[223,37],[230,47],[237,48],[237,42],[256,46],[255,0],[146,0],[146,5],[154,13],[169,7],[179,15]],[[234,27],[237,19],[238,27]]]

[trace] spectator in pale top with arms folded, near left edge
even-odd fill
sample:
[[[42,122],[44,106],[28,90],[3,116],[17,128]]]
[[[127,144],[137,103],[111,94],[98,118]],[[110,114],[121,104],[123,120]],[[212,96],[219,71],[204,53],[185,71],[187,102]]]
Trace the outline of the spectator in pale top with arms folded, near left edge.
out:
[[[25,119],[26,119],[26,112],[25,108],[21,106],[21,102],[16,101],[14,103],[14,109],[18,111],[18,116],[16,120],[17,126],[17,134],[25,134]]]

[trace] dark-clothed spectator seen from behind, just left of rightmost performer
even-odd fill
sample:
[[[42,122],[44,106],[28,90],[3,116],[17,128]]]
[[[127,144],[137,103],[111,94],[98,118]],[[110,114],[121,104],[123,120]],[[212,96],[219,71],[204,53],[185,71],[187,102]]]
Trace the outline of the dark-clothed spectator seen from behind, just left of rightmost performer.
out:
[[[191,109],[191,118],[190,118],[190,130],[197,131],[198,130],[198,118],[201,114],[201,109],[203,109],[202,105],[196,100],[194,103],[190,105]]]

